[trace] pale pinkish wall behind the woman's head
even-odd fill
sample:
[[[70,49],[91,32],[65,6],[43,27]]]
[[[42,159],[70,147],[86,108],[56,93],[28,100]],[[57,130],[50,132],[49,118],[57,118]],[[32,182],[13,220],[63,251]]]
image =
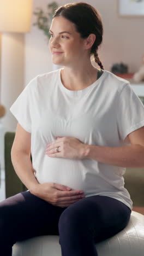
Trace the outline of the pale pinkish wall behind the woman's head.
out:
[[[33,0],[36,7],[46,8],[52,0]],[[68,2],[57,0],[59,5]],[[123,61],[129,66],[129,72],[139,69],[144,54],[144,16],[141,18],[122,18],[118,16],[118,0],[89,0],[86,2],[97,8],[104,25],[104,39],[99,49],[99,57],[104,68],[110,71],[112,63]],[[33,15],[32,24],[35,20]],[[43,31],[32,26],[31,32],[25,36],[25,85],[37,74],[52,71],[51,55],[47,38]]]

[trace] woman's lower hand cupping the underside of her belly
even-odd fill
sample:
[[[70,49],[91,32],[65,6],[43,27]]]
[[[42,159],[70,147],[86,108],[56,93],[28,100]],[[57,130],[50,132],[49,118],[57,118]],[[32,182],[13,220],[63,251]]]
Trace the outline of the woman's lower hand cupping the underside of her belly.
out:
[[[71,190],[71,188],[68,190],[67,188],[58,183],[43,183],[35,185],[31,193],[59,207],[68,207],[85,197],[82,190]]]

